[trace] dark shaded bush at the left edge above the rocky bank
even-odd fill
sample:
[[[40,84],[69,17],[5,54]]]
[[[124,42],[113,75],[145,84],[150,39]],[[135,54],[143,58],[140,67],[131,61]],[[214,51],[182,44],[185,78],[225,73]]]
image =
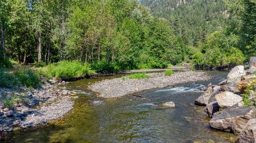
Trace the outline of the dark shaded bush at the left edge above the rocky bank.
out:
[[[16,85],[19,85],[20,82],[17,77],[5,73],[3,70],[0,69],[0,87],[3,88],[13,88]]]

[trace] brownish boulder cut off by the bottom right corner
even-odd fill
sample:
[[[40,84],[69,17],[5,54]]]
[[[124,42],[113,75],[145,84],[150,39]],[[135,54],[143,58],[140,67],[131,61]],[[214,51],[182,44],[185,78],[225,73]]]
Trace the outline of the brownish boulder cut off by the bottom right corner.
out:
[[[256,119],[250,119],[243,128],[240,137],[240,143],[255,143],[256,142]]]

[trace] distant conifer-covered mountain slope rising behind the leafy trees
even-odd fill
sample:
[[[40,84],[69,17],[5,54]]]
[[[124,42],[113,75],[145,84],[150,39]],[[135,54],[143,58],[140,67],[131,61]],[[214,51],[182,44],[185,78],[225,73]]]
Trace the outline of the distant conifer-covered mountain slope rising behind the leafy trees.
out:
[[[175,34],[187,45],[205,42],[206,35],[226,26],[228,14],[222,0],[141,0],[154,16],[170,21]]]

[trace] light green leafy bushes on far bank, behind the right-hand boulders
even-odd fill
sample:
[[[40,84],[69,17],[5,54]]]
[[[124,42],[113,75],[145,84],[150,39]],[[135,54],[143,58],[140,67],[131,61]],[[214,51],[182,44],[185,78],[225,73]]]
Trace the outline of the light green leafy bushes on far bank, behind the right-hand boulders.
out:
[[[206,43],[199,47],[201,51],[192,55],[192,64],[198,68],[225,68],[242,64],[245,59],[242,51],[230,47],[225,38],[218,31],[210,34]]]

